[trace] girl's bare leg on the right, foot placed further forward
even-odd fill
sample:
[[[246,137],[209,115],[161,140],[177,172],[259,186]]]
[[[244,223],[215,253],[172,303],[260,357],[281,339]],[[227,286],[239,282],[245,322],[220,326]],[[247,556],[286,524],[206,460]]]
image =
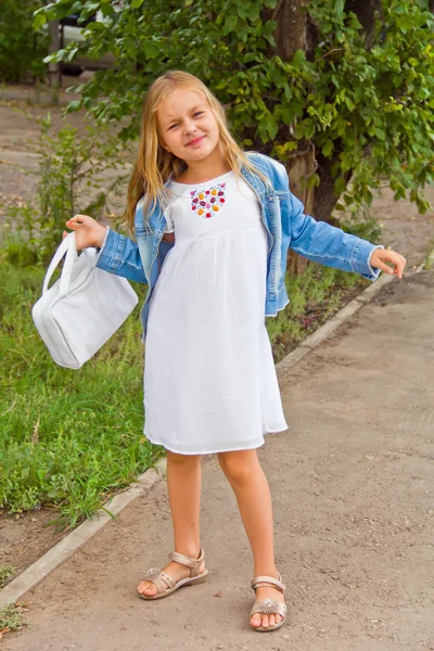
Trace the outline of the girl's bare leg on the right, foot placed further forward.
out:
[[[221,470],[237,497],[241,518],[252,546],[254,576],[266,575],[278,578],[275,565],[273,526],[271,495],[267,478],[260,468],[257,452],[240,450],[217,455]],[[273,599],[283,603],[280,590],[271,587],[256,589],[257,599]],[[252,615],[252,626],[272,626],[280,615]]]

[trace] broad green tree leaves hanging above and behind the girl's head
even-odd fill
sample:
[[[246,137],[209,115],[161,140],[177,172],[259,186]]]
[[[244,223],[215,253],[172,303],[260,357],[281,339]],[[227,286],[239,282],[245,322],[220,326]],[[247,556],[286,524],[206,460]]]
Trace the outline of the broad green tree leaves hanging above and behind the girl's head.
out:
[[[41,9],[40,25],[71,13],[77,3],[58,0]],[[100,9],[103,23],[86,27],[80,50],[113,52],[116,69],[98,72],[79,87],[100,120],[131,116],[123,137],[137,135],[141,100],[159,74],[182,68],[201,77],[227,106],[240,141],[289,163],[312,143],[333,159],[335,194],[354,171],[347,200],[370,203],[387,177],[396,199],[410,191],[421,212],[422,192],[433,181],[433,17],[425,0],[382,0],[367,48],[366,35],[345,2],[307,4],[318,46],[309,59],[277,52],[277,0],[126,0],[115,11],[107,0],[79,3],[82,17]],[[67,60],[75,46],[51,56]],[[94,102],[99,94],[110,100]],[[312,180],[318,182],[318,177]]]

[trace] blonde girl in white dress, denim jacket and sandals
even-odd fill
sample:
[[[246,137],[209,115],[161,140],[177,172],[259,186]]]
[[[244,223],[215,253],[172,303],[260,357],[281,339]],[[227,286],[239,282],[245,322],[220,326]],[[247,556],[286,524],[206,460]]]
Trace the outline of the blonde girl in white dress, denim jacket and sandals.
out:
[[[100,248],[98,267],[148,284],[144,434],[167,449],[176,551],[148,572],[139,595],[161,599],[207,579],[201,455],[216,452],[253,551],[250,623],[275,630],[286,617],[285,586],[256,448],[288,429],[265,327],[288,304],[288,248],[371,280],[380,270],[403,278],[406,260],[304,215],[283,165],[242,152],[222,106],[182,72],[159,77],[143,102],[127,220],[136,241],[86,215],[66,226],[77,248]]]

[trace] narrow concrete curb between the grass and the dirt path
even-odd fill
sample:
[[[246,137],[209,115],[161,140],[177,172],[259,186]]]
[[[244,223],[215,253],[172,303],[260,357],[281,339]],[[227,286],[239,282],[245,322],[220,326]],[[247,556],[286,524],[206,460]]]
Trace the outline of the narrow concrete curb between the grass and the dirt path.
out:
[[[434,251],[427,256],[426,260],[418,267],[414,273],[422,271],[427,260],[434,261]],[[336,312],[334,317],[307,336],[295,350],[292,350],[292,353],[286,355],[286,357],[276,365],[278,378],[281,379],[293,366],[303,359],[305,355],[334,334],[340,326],[347,321],[358,309],[360,309],[360,307],[369,303],[373,296],[380,292],[383,285],[394,279],[395,276],[383,273],[379,280],[363,290],[357,298],[350,301]],[[58,565],[68,559],[75,551],[82,547],[85,542],[90,540],[90,538],[102,529],[107,522],[111,521],[111,514],[117,515],[120,513],[132,500],[151,488],[162,475],[165,475],[166,471],[167,460],[161,459],[156,463],[155,470],[146,470],[136,480],[136,482],[133,482],[133,484],[131,484],[130,488],[124,493],[119,493],[107,502],[104,507],[106,510],[100,509],[91,520],[80,524],[76,529],[63,538],[63,540],[58,542],[58,545],[36,561],[36,563],[22,572],[15,579],[0,590],[0,609],[9,603],[16,602],[25,592],[28,592],[28,590],[46,578],[46,576],[58,567]],[[110,511],[111,514],[108,514],[107,511]]]

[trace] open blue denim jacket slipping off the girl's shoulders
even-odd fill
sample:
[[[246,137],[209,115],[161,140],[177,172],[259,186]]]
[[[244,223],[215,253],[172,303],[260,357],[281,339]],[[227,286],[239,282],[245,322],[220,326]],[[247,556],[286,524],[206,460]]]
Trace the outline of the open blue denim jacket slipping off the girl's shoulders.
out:
[[[269,184],[265,183],[259,176],[252,174],[245,167],[241,169],[243,178],[256,192],[267,230],[266,316],[276,316],[289,303],[284,282],[289,247],[328,267],[355,271],[370,280],[378,279],[380,269],[373,268],[370,259],[375,248],[384,248],[384,246],[371,244],[305,215],[302,202],[290,191],[289,178],[283,165],[256,152],[250,152],[247,156],[270,181]],[[139,202],[136,208],[135,227],[137,242],[107,227],[97,257],[97,267],[128,280],[148,284],[140,312],[143,342],[152,290],[164,258],[174,244],[163,240],[167,221],[164,208],[158,204],[145,220],[142,202]]]

